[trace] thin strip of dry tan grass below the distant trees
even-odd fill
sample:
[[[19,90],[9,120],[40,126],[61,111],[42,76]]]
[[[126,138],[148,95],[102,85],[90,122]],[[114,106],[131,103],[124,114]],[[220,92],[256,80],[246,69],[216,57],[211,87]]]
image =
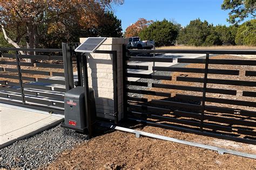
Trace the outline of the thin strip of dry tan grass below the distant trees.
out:
[[[156,49],[256,49],[256,46],[163,46]]]

